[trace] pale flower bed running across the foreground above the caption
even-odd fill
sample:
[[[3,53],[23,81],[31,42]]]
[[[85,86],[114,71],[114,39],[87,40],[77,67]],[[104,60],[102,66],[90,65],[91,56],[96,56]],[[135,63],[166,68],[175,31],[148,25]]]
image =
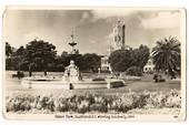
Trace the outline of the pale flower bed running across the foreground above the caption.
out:
[[[109,95],[82,94],[82,95],[33,95],[33,94],[13,94],[7,96],[7,112],[26,113],[39,112],[117,112],[127,113],[136,108],[180,108],[181,95],[177,90],[170,92],[129,92]],[[40,113],[40,112],[39,112]]]

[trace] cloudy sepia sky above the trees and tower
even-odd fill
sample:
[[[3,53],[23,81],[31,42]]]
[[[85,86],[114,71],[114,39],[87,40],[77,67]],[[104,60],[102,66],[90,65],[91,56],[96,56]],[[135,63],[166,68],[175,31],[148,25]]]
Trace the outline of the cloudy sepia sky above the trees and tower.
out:
[[[106,54],[118,20],[126,24],[126,45],[153,48],[156,41],[176,37],[180,40],[179,10],[94,8],[94,9],[7,9],[3,14],[3,41],[26,46],[38,38],[56,45],[58,54],[70,51],[74,34],[80,53]]]

